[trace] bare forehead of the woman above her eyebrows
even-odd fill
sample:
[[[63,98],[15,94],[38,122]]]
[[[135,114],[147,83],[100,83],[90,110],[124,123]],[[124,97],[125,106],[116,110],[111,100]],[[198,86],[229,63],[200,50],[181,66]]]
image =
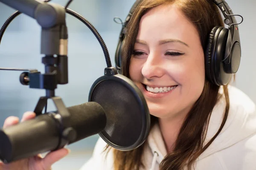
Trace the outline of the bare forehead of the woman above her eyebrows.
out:
[[[185,17],[175,4],[157,6],[150,9],[140,20],[138,38],[186,39],[198,34],[195,26]],[[171,36],[171,37],[170,37]]]

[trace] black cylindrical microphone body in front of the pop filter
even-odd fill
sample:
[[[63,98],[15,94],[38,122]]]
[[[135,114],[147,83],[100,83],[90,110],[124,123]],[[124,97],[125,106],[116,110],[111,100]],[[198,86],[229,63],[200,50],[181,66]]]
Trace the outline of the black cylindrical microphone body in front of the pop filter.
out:
[[[87,102],[67,108],[70,112],[72,142],[101,132],[106,126],[106,114],[97,102]],[[58,113],[44,113],[35,119],[0,130],[0,159],[5,163],[55,150],[60,142],[61,126]]]

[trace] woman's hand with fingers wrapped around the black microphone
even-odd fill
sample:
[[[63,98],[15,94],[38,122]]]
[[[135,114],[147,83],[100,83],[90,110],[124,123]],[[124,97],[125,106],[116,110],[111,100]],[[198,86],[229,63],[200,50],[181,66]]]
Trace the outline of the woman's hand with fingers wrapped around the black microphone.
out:
[[[21,122],[34,118],[35,113],[26,112],[23,114]],[[5,120],[3,128],[15,125],[17,123],[19,123],[19,118],[10,116]],[[67,156],[69,152],[70,150],[62,148],[53,152],[49,152],[44,158],[42,158],[41,155],[38,155],[27,159],[13,161],[9,164],[0,162],[0,170],[50,170],[52,164]]]

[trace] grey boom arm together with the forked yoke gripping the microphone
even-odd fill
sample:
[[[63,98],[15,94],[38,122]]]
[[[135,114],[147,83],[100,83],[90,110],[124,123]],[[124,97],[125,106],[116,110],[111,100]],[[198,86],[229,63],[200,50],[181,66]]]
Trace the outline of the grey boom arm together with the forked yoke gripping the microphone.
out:
[[[76,138],[76,132],[70,127],[70,113],[60,97],[55,96],[57,84],[68,83],[67,66],[67,26],[66,10],[62,6],[38,0],[0,0],[29,17],[41,26],[41,54],[45,65],[45,74],[38,71],[26,73],[29,88],[46,90],[46,96],[40,97],[35,107],[36,115],[42,113],[47,99],[52,99],[58,113],[55,119],[61,126],[59,144],[55,150],[64,147]]]

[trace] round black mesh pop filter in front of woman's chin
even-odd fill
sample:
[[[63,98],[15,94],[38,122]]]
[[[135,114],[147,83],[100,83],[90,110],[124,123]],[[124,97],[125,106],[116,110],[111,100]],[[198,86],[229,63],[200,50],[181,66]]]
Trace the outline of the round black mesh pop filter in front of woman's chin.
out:
[[[105,75],[92,85],[89,102],[97,102],[107,116],[99,136],[117,150],[133,150],[145,142],[150,114],[140,89],[116,68],[105,68]]]

